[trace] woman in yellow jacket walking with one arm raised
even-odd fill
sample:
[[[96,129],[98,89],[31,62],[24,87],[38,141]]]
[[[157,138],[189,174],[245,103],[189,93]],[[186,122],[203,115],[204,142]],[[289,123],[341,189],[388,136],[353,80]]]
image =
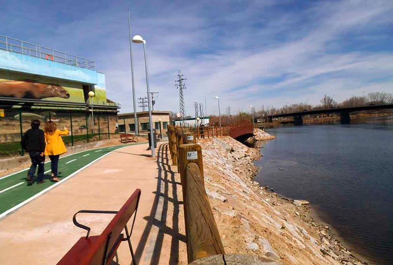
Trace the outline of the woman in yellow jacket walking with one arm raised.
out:
[[[48,155],[51,159],[51,180],[57,182],[60,181],[57,177],[58,158],[60,154],[67,151],[64,142],[61,139],[61,135],[68,135],[68,130],[66,127],[64,127],[64,131],[56,129],[56,123],[50,120],[45,124],[44,133],[46,142],[45,155]]]

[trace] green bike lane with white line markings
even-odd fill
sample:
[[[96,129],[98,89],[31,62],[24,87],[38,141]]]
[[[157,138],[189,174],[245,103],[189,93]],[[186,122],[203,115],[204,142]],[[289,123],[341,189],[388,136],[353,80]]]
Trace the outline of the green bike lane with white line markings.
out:
[[[46,191],[61,184],[66,179],[73,177],[87,166],[98,161],[102,157],[123,147],[141,145],[147,143],[135,143],[121,146],[102,147],[81,151],[61,157],[58,162],[59,182],[50,181],[51,162],[46,161],[45,182],[28,185],[26,176],[28,168],[4,177],[0,177],[0,218],[27,204],[29,201],[45,193]],[[49,160],[49,159],[47,159]],[[37,173],[35,174],[36,179]]]

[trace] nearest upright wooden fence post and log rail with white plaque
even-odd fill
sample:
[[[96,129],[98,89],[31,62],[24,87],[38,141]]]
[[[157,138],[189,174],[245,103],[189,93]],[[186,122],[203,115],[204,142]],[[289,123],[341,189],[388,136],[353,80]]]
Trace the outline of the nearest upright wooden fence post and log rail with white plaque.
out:
[[[212,255],[224,255],[224,246],[205,191],[202,148],[196,144],[180,145],[179,158],[188,263]]]

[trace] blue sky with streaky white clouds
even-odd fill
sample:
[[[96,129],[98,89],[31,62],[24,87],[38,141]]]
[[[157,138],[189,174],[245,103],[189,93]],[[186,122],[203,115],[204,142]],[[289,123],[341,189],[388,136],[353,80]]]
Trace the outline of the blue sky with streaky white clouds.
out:
[[[155,110],[179,112],[179,70],[191,116],[205,99],[205,114],[217,115],[215,96],[222,114],[236,114],[393,93],[392,0],[0,2],[0,34],[95,60],[121,113],[133,111],[127,9],[132,34],[146,40]],[[132,47],[138,98],[143,45]]]

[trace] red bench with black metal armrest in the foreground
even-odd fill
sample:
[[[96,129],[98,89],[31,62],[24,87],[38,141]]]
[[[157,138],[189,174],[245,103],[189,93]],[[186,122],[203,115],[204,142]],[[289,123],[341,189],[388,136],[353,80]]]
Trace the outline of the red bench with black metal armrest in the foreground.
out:
[[[57,265],[109,265],[121,241],[128,241],[133,264],[136,264],[131,245],[131,234],[134,228],[140,198],[140,189],[136,189],[119,211],[80,210],[74,214],[74,225],[87,230],[87,235],[79,238],[75,245],[65,254]],[[100,236],[89,236],[90,228],[77,222],[78,213],[110,213],[115,214]],[[134,214],[131,229],[127,223]],[[122,233],[125,231],[125,235]]]

